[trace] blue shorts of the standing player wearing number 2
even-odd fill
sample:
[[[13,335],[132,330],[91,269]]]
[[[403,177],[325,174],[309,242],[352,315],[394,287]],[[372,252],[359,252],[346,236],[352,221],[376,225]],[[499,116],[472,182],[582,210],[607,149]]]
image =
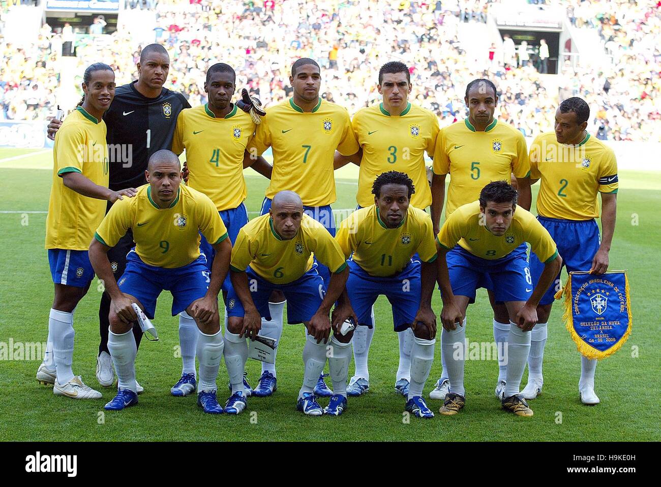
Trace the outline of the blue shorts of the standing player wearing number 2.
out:
[[[599,250],[601,238],[599,226],[594,220],[560,220],[559,218],[545,218],[537,216],[537,220],[549,231],[551,238],[558,247],[558,253],[563,257],[563,265],[567,272],[590,271],[592,259]],[[544,270],[544,263],[537,259],[535,253],[530,253],[530,273],[533,282],[537,284],[539,276]],[[562,272],[562,269],[560,269]],[[551,287],[542,296],[539,304],[553,303],[553,295],[560,279],[560,273],[551,284]]]

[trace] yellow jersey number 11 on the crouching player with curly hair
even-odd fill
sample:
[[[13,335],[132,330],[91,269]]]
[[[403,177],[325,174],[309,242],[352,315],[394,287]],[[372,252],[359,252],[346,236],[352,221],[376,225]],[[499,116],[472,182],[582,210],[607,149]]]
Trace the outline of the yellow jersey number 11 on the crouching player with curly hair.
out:
[[[353,253],[354,262],[371,276],[401,273],[416,252],[424,262],[436,260],[432,219],[413,206],[397,228],[385,226],[376,205],[354,211],[340,224],[335,240],[344,257]]]

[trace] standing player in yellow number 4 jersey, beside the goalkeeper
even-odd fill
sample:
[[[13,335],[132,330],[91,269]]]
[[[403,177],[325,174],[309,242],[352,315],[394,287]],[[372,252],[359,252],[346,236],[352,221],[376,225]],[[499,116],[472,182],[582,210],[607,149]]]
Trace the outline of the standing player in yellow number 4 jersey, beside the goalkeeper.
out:
[[[206,73],[204,91],[209,102],[190,110],[183,110],[176,121],[172,150],[181,154],[186,149],[188,185],[204,193],[215,203],[233,244],[242,226],[248,222],[248,212],[243,201],[247,187],[243,168],[253,166],[270,178],[270,165],[259,157],[253,159],[245,148],[254,134],[255,123],[251,115],[238,110],[231,102],[235,91],[236,75],[231,66],[216,63]],[[212,269],[214,249],[204,235],[200,251],[206,255],[207,266]],[[229,276],[223,282],[223,298],[231,286]],[[180,318],[181,320],[181,318]],[[227,316],[225,316],[227,328]],[[195,348],[182,353],[184,370],[181,379],[172,389],[173,395],[185,396],[195,390]],[[247,394],[250,386],[246,383]]]

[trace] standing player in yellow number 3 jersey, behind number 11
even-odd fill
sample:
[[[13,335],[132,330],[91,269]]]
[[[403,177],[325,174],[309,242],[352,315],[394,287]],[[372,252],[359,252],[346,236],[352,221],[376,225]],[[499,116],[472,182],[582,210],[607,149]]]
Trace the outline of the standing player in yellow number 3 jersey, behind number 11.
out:
[[[381,66],[377,90],[383,96],[383,102],[359,110],[352,121],[360,152],[355,157],[348,158],[336,154],[336,167],[348,160],[360,165],[356,195],[358,208],[373,205],[371,191],[374,179],[391,170],[403,172],[412,179],[417,188],[410,201],[412,206],[424,210],[432,203],[424,152],[430,157],[434,155],[438,118],[429,110],[408,102],[411,89],[407,65],[390,61]],[[354,335],[356,371],[349,383],[349,395],[358,396],[369,391],[368,354],[374,334],[373,315],[371,310],[371,326],[360,327]],[[395,378],[395,390],[407,397],[413,331],[410,328],[403,329],[398,333],[398,337],[399,368]]]

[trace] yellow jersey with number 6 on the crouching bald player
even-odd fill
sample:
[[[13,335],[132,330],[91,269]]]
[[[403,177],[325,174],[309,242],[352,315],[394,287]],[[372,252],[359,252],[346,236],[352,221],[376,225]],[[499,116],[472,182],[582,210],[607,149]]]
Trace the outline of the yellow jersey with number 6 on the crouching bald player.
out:
[[[282,240],[273,228],[273,218],[263,214],[239,230],[229,267],[242,272],[250,265],[256,274],[268,282],[288,284],[311,269],[313,253],[332,273],[340,273],[346,267],[340,245],[311,216],[303,214],[296,236],[291,240]]]

